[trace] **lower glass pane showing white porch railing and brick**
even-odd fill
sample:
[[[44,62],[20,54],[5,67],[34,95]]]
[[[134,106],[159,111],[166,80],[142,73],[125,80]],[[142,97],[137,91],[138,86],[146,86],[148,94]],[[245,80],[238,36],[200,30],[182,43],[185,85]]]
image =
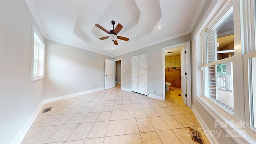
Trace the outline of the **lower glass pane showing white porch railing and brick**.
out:
[[[234,114],[232,62],[204,67],[204,95]]]

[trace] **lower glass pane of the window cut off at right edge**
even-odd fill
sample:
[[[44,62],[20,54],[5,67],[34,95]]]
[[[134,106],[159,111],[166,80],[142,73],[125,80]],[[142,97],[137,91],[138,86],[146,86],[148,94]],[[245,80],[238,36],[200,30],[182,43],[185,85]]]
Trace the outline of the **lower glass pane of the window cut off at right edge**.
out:
[[[251,126],[256,128],[256,57],[251,58],[251,94],[250,94],[250,116]]]

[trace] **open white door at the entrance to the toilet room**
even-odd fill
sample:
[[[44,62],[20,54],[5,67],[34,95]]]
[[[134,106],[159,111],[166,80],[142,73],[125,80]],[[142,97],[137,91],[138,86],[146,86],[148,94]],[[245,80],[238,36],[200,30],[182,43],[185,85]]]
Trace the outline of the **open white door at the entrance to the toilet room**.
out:
[[[187,69],[187,57],[185,54],[185,47],[180,51],[180,75],[181,75],[181,98],[185,105],[187,105],[187,76],[185,74]]]

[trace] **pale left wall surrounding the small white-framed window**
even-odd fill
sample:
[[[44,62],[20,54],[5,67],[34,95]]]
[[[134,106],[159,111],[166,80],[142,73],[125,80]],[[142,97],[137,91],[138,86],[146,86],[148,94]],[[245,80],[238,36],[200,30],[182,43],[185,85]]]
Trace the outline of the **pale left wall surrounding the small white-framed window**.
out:
[[[44,80],[30,81],[32,25],[25,1],[0,1],[1,137],[11,143],[36,110]],[[38,29],[39,30],[39,29]]]

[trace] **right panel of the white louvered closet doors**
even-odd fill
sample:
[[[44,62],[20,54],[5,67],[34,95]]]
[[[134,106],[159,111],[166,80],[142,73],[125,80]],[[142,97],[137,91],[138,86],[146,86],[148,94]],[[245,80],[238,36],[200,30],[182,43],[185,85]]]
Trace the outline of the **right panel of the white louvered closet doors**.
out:
[[[138,93],[147,95],[147,54],[138,55]]]

